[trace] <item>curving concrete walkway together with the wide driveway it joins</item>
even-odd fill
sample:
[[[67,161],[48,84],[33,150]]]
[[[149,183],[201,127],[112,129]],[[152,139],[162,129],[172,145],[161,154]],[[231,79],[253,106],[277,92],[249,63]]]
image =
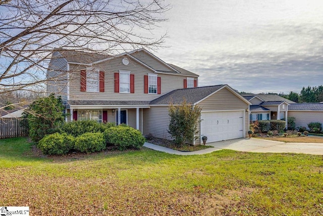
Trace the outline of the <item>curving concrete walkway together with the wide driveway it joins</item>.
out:
[[[143,146],[156,151],[177,155],[207,154],[213,151],[219,151],[221,149],[260,153],[273,152],[323,155],[323,143],[284,143],[279,141],[244,138],[208,143],[207,145],[213,146],[213,148],[207,148],[194,152],[181,152],[166,147],[157,146],[151,143],[145,143]]]

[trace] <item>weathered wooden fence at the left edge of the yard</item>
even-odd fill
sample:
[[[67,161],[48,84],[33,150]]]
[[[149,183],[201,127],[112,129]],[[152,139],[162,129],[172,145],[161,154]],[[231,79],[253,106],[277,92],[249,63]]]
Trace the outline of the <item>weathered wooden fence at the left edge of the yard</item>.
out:
[[[0,139],[28,136],[28,129],[21,127],[16,118],[0,119]]]

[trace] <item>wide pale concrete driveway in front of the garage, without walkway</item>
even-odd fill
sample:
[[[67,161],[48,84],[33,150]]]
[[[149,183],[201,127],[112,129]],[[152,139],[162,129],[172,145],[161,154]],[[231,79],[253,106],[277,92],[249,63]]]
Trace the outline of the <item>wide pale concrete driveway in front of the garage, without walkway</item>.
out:
[[[322,140],[323,142],[323,140]],[[323,143],[284,143],[254,138],[227,140],[207,145],[246,152],[304,153],[323,155]]]

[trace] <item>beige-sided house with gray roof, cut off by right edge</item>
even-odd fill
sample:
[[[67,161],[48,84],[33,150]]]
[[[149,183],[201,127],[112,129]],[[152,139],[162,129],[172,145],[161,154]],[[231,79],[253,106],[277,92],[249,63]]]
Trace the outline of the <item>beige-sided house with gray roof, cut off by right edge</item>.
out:
[[[306,127],[309,122],[323,125],[323,103],[295,103],[288,106],[288,116],[295,117],[296,127]]]

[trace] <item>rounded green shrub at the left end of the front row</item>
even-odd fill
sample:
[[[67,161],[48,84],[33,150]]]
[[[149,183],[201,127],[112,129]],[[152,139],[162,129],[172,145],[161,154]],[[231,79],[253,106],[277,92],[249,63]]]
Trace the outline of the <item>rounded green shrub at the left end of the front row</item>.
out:
[[[74,148],[75,138],[66,133],[64,134],[50,134],[46,135],[39,142],[37,147],[44,154],[52,155],[52,154],[66,154],[71,149]]]

